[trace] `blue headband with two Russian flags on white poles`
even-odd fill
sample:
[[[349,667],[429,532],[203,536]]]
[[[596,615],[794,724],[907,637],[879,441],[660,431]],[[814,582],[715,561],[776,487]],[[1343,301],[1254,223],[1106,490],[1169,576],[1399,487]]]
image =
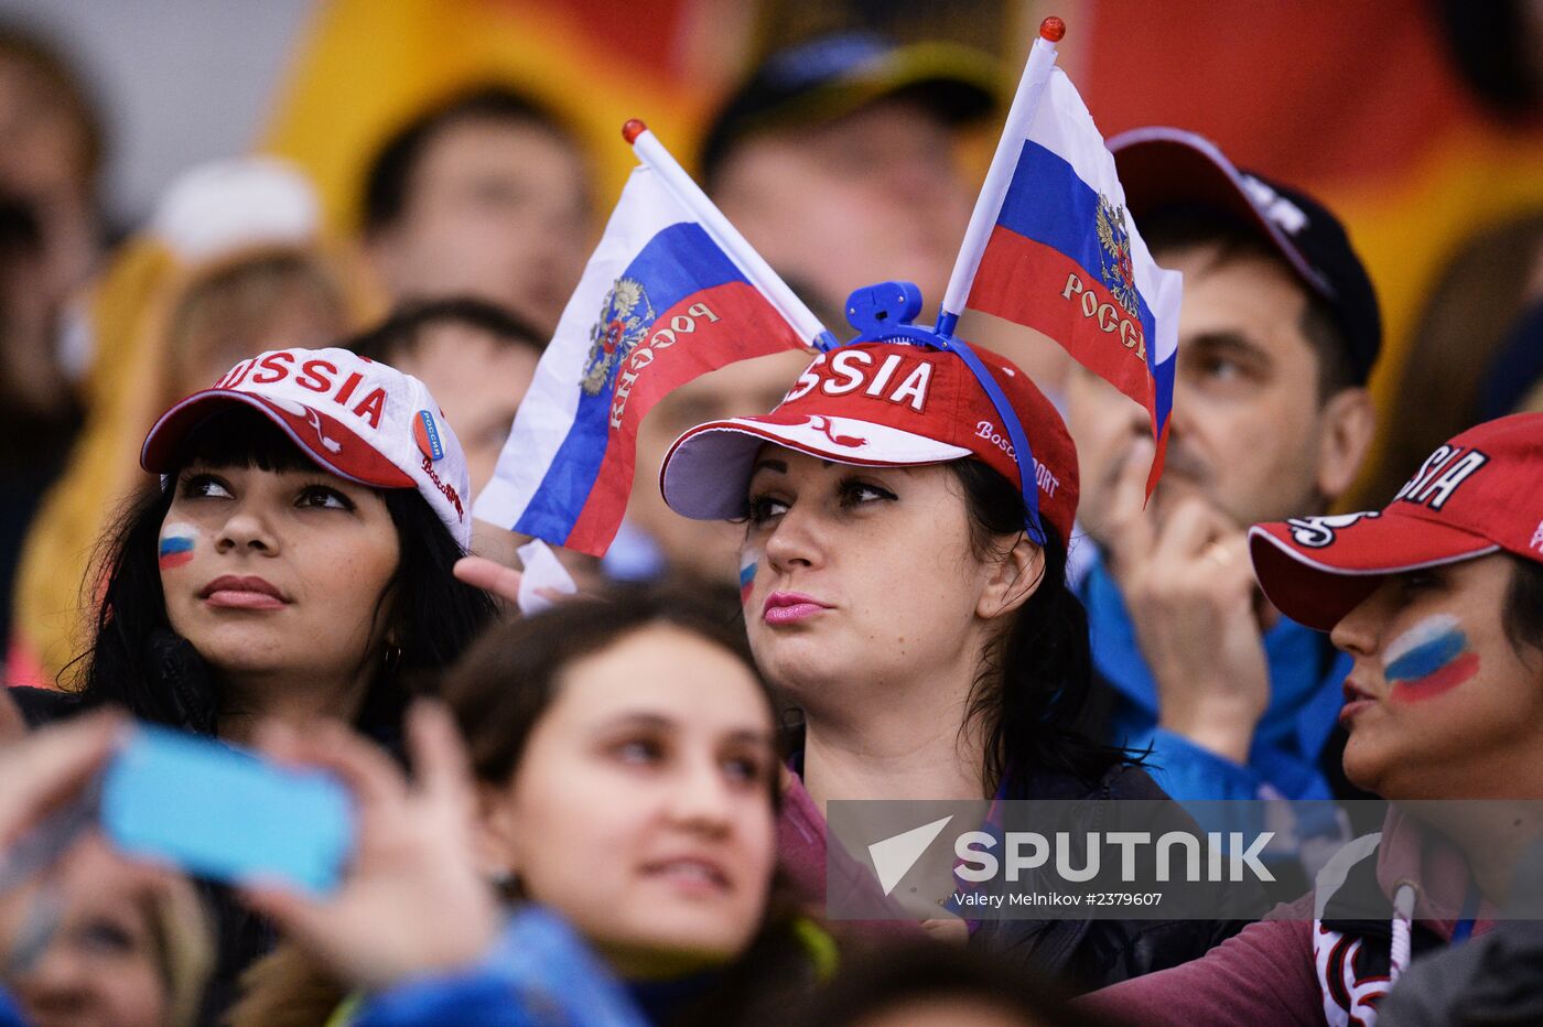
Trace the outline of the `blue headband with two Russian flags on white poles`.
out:
[[[937,330],[907,325],[900,335],[971,367],[1025,460],[1023,483],[1032,481],[1021,473],[1032,466],[1032,439],[954,327],[969,307],[1055,339],[1150,412],[1157,439],[1150,493],[1173,406],[1180,276],[1153,262],[1131,224],[1114,157],[1054,66],[1060,31],[1058,19],[1048,19],[1029,54]],[[637,429],[659,398],[734,361],[838,347],[640,122],[623,136],[642,163],[475,506],[480,520],[597,557],[622,523]],[[913,299],[920,310],[920,293]],[[1026,487],[1031,537],[1034,497]]]

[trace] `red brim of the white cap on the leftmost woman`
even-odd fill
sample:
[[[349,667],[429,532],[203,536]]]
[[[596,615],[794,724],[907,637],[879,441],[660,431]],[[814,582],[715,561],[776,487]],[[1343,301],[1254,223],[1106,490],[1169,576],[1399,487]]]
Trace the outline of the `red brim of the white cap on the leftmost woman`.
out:
[[[341,421],[315,407],[295,404],[299,407],[296,412],[264,396],[231,389],[196,392],[162,413],[160,419],[150,429],[150,435],[145,436],[139,464],[153,473],[170,473],[176,467],[182,444],[194,429],[231,404],[250,407],[268,418],[299,446],[301,452],[339,478],[376,489],[417,487],[417,483],[406,472]]]

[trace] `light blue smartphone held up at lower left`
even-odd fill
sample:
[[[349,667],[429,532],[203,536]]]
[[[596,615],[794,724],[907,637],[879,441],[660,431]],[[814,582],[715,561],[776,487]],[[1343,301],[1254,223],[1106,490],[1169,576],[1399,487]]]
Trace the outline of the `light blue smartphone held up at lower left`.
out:
[[[312,893],[336,888],[353,851],[352,800],[333,776],[143,725],[103,771],[100,819],[123,853]]]

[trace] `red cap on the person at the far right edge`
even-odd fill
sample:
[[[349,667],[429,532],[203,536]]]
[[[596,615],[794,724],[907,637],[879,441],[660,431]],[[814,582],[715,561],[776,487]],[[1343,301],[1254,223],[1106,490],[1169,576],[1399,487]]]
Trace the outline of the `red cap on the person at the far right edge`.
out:
[[[1384,510],[1256,524],[1248,544],[1265,597],[1319,631],[1389,574],[1498,551],[1543,563],[1543,413],[1489,421],[1440,446]]]

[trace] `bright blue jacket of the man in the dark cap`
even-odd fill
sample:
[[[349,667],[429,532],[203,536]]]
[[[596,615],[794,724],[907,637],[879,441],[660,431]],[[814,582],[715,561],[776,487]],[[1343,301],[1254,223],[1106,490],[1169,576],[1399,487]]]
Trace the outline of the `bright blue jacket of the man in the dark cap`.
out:
[[[1350,657],[1321,632],[1281,618],[1264,635],[1270,706],[1254,728],[1248,765],[1239,766],[1157,726],[1157,682],[1136,641],[1125,598],[1096,555],[1077,584],[1088,608],[1094,669],[1113,691],[1108,740],[1151,746],[1146,771],[1180,802],[1202,799],[1332,799],[1321,768],[1324,746],[1344,705]]]

